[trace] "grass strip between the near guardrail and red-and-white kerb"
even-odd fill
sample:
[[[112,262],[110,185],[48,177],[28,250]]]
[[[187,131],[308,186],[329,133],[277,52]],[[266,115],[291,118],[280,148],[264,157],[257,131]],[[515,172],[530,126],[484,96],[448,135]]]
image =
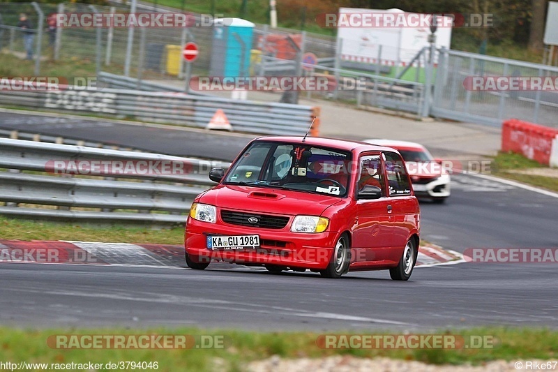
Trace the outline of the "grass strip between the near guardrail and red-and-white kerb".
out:
[[[184,216],[186,219],[186,216]],[[183,226],[153,230],[137,227],[96,227],[79,223],[52,223],[0,216],[0,239],[80,240],[135,244],[176,244],[184,242]]]

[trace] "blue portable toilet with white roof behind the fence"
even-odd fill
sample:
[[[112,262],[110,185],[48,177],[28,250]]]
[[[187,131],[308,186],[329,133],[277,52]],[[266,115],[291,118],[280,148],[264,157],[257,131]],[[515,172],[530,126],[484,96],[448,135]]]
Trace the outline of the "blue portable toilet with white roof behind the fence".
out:
[[[213,22],[213,50],[209,75],[246,77],[254,24],[241,18],[217,18]]]

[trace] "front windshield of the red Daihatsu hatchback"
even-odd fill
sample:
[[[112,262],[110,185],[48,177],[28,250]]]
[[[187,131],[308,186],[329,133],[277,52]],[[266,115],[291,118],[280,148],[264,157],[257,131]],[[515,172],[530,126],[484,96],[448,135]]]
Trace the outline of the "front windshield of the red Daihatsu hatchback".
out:
[[[351,154],[303,143],[254,142],[227,174],[225,184],[347,195]]]

